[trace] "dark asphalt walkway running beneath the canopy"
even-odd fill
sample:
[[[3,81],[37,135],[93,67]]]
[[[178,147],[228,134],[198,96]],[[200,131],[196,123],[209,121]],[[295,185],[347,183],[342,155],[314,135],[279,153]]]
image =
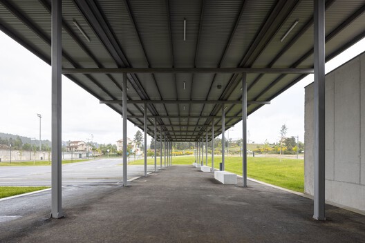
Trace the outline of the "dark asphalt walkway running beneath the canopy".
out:
[[[328,205],[328,220],[317,222],[312,200],[248,185],[218,184],[212,173],[172,166],[127,188],[84,195],[64,206],[63,219],[39,210],[5,222],[0,242],[365,242],[363,215]]]

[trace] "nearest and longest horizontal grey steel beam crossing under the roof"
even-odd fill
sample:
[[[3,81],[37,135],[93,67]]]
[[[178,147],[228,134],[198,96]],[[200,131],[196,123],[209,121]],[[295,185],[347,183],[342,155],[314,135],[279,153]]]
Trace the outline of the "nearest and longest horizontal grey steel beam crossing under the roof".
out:
[[[313,68],[64,68],[62,74],[93,73],[286,73],[309,74]]]

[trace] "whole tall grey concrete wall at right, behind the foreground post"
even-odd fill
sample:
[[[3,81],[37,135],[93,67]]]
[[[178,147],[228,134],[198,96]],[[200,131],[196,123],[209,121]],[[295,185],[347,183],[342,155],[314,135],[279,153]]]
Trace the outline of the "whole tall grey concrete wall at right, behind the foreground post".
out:
[[[304,191],[314,191],[313,84],[306,87]],[[365,54],[326,75],[326,200],[365,211]]]

